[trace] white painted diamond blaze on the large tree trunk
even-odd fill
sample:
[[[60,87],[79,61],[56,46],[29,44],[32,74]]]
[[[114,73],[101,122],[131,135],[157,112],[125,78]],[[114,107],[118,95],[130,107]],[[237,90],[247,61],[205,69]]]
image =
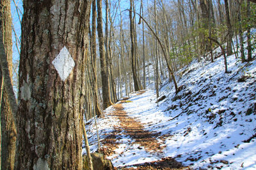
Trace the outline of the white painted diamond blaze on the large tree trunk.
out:
[[[65,81],[66,78],[71,73],[73,67],[75,66],[75,62],[72,59],[70,53],[66,46],[64,46],[57,57],[52,61],[53,66],[58,71],[60,78],[62,81]]]

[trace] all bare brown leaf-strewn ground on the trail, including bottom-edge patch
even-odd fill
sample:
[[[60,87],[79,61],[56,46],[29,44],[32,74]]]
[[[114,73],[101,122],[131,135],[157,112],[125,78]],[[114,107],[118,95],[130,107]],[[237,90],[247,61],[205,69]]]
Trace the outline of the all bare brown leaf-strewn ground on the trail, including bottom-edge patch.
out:
[[[145,91],[136,92],[137,95],[143,94]],[[102,148],[102,152],[105,155],[112,155],[115,153],[115,149],[118,148],[118,141],[116,139],[122,138],[122,136],[130,136],[130,138],[134,139],[133,144],[140,145],[138,149],[145,149],[147,152],[154,153],[157,155],[161,155],[163,153],[163,149],[166,147],[164,145],[164,136],[161,136],[161,142],[157,141],[157,137],[161,134],[154,133],[150,131],[145,131],[143,124],[140,121],[129,117],[127,113],[124,111],[123,103],[129,102],[128,99],[124,99],[119,103],[113,105],[115,110],[112,113],[108,113],[118,119],[120,121],[120,126],[114,127],[115,131],[112,134],[108,134],[108,136],[102,141],[102,144],[105,146]],[[121,136],[122,132],[122,136]],[[136,164],[132,167],[117,167],[118,169],[184,169],[180,162],[177,162],[175,159],[171,157],[163,158],[154,162],[146,162],[144,164]],[[186,167],[188,169],[188,167]]]

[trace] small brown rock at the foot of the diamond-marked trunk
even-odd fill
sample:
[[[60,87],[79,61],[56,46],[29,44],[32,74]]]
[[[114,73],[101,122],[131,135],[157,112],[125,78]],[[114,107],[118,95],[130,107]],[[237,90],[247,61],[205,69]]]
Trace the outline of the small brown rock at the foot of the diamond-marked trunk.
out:
[[[93,162],[93,170],[112,170],[114,169],[114,166],[112,162],[109,159],[104,158],[104,155],[102,153],[91,153],[92,156],[92,162]],[[88,168],[88,162],[87,162],[87,156],[83,156],[83,170],[87,170]]]

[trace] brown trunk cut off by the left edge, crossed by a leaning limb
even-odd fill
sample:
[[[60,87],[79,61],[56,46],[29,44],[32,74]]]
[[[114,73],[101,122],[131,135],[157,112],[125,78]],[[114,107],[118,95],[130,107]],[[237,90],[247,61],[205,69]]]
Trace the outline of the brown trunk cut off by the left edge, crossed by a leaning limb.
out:
[[[4,51],[8,60],[10,77],[12,77],[12,17],[10,14],[10,1],[1,0],[0,8]],[[5,86],[3,89],[3,101],[1,103],[1,169],[13,169],[16,148],[16,127]]]

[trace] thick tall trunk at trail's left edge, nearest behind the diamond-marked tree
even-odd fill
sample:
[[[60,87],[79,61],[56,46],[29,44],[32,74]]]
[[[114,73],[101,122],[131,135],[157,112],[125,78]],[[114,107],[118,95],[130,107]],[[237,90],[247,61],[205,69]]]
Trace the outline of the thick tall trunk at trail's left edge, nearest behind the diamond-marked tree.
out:
[[[97,0],[97,31],[99,37],[99,52],[100,52],[100,69],[101,69],[101,82],[102,82],[102,98],[103,98],[103,108],[106,109],[111,106],[113,103],[111,102],[110,97],[110,88],[109,88],[109,74],[108,67],[106,65],[106,55],[104,49],[104,37],[103,37],[103,29],[102,29],[102,0]]]

